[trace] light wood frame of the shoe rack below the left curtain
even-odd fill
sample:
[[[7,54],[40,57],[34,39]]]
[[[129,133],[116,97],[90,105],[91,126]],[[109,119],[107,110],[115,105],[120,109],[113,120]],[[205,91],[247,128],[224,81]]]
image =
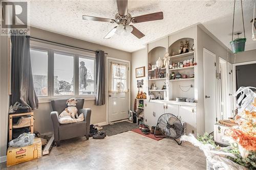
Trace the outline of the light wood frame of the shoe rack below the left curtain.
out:
[[[21,116],[31,116],[30,132],[34,133],[34,112],[9,114],[9,141],[12,140],[12,119]]]

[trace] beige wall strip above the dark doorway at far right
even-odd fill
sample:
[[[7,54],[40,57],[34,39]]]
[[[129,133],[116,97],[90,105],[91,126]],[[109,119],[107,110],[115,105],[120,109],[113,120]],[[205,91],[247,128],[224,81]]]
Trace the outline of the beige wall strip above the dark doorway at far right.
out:
[[[242,63],[256,60],[256,50],[250,50],[238,54],[233,54],[232,63]]]

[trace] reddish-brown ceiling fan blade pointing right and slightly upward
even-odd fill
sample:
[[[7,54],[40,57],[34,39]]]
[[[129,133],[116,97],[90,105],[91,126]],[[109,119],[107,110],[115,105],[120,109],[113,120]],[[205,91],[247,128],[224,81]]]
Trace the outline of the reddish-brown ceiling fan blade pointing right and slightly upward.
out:
[[[146,22],[152,20],[160,20],[163,19],[163,12],[156,12],[152,14],[135,16],[132,18],[133,23]]]

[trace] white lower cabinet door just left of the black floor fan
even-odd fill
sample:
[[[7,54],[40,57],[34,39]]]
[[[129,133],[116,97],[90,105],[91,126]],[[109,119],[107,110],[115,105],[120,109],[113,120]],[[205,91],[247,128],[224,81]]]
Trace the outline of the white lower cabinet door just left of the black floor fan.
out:
[[[160,115],[164,114],[163,103],[145,102],[144,124],[149,127],[156,126]]]

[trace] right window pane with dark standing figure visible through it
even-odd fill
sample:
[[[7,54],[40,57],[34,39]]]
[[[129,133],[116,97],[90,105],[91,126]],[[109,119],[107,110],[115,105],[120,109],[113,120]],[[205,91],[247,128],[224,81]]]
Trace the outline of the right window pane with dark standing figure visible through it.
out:
[[[94,60],[79,57],[79,94],[94,94]]]

